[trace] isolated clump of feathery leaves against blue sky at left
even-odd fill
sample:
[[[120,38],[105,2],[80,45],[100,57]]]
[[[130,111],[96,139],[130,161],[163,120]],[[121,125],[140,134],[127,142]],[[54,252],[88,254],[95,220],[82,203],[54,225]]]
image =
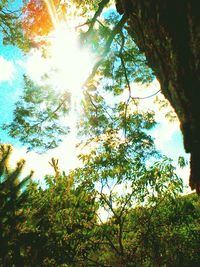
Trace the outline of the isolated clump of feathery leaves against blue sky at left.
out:
[[[54,148],[69,129],[60,122],[69,109],[70,95],[56,93],[47,86],[38,86],[24,76],[24,94],[16,103],[14,119],[3,128],[17,137],[28,149]]]

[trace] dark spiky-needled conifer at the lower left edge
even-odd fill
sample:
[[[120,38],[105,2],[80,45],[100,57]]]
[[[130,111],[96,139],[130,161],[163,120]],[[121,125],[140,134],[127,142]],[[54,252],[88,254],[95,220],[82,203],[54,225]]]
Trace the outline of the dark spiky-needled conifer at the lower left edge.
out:
[[[24,221],[26,185],[33,173],[19,179],[25,161],[19,161],[12,170],[9,167],[11,152],[10,145],[0,146],[0,263],[2,266],[21,266],[20,227]]]

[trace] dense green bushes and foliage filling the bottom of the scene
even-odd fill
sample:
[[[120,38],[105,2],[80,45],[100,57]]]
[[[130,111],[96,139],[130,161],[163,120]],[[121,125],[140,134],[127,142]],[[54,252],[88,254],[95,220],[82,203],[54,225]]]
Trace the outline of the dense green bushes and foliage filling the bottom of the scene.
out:
[[[9,155],[4,148],[1,170]],[[91,159],[68,175],[52,159],[55,175],[45,177],[46,187],[32,182],[19,200],[5,197],[14,191],[1,183],[1,204],[13,201],[1,206],[1,242],[7,238],[2,266],[198,266],[199,199],[180,197],[182,183],[170,161],[143,166],[132,175],[126,165],[117,179],[120,175],[112,171],[120,166],[95,162],[98,153],[91,151]],[[17,227],[11,230],[14,218]]]

